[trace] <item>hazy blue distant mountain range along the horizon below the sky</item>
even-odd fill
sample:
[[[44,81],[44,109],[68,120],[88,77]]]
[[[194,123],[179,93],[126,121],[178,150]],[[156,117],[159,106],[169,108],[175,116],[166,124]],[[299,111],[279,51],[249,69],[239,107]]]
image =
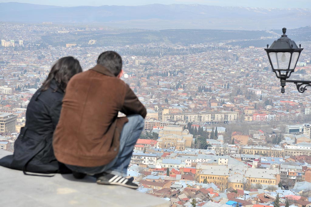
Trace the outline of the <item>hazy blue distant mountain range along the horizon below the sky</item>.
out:
[[[98,23],[141,29],[268,30],[309,26],[310,9],[220,7],[199,4],[58,7],[0,3],[0,21]]]

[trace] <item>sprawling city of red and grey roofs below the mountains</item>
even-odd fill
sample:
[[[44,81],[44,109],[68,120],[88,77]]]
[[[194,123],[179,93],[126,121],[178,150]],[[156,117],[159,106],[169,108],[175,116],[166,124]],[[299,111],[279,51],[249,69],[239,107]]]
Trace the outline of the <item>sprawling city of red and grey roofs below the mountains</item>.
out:
[[[13,152],[30,98],[59,58],[86,71],[113,50],[147,109],[127,171],[138,192],[173,207],[311,206],[311,89],[288,83],[282,94],[264,50],[281,28],[193,37],[50,21],[0,28],[0,149]],[[288,30],[304,48],[292,79],[311,79],[308,31]]]

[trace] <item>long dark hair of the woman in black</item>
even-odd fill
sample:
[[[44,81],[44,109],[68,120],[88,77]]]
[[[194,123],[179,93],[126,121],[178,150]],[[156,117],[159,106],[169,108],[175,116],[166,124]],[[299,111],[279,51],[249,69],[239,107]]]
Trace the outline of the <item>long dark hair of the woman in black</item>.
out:
[[[41,91],[48,90],[53,79],[55,79],[57,84],[55,91],[57,91],[58,88],[65,91],[69,79],[80,72],[82,72],[82,68],[77,59],[71,56],[63,57],[51,68],[48,78],[42,84]]]

